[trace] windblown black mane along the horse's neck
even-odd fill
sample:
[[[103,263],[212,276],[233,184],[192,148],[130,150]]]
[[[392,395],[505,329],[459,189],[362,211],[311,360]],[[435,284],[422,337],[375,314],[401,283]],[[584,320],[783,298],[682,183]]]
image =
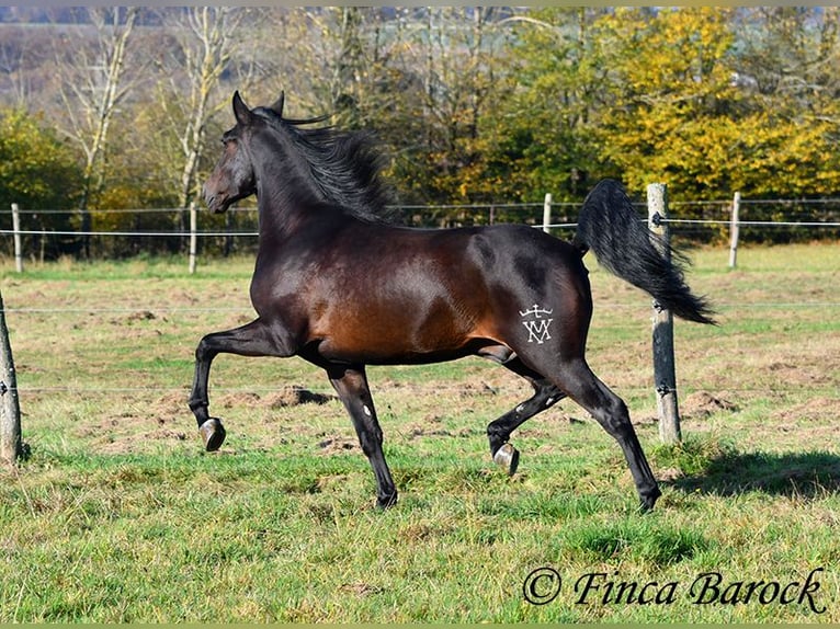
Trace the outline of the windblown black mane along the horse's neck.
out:
[[[323,122],[329,116],[308,119],[284,118],[268,107],[253,110],[274,129],[292,140],[308,164],[309,183],[323,198],[367,222],[397,222],[388,206],[394,192],[383,178],[384,158],[366,131],[341,131]]]

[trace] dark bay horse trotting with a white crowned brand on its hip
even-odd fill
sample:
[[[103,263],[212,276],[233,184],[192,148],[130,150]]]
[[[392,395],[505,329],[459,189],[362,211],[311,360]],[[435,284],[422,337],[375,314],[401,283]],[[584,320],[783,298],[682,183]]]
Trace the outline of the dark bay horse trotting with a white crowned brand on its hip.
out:
[[[614,181],[600,182],[572,242],[526,226],[410,229],[383,219],[388,201],[364,134],[283,118],[283,98],[249,108],[234,95],[236,126],[204,185],[207,207],[259,202],[252,322],[204,336],[195,351],[190,408],[207,450],[225,439],[208,412],[207,378],[219,353],[300,356],[325,369],[344,403],[376,478],[381,506],[397,500],[383,456],[366,365],[421,364],[478,355],[522,376],[534,394],[487,427],[508,473],[519,462],[509,437],[569,397],[620,444],[644,508],[660,495],[624,402],[584,358],[592,297],[583,254],[649,293],[674,314],[711,323],[676,261]]]

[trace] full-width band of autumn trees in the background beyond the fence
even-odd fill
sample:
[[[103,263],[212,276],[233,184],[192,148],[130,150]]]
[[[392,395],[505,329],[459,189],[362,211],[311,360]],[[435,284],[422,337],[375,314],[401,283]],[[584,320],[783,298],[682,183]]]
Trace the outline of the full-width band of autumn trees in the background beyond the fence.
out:
[[[31,163],[3,164],[0,198],[103,228],[152,226],[98,208],[195,198],[235,89],[374,130],[406,204],[579,201],[603,176],[676,201],[840,195],[837,8],[15,10],[0,121],[43,142],[43,181],[68,155],[81,174],[32,198],[5,174]]]

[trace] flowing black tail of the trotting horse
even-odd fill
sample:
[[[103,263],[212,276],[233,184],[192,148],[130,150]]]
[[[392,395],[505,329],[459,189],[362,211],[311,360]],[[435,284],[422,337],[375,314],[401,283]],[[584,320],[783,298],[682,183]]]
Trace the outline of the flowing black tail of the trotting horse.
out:
[[[651,295],[678,317],[697,323],[714,323],[707,301],[692,294],[683,279],[684,256],[657,251],[650,232],[633,209],[621,184],[605,179],[595,185],[583,202],[574,244],[581,253],[592,250],[611,273]]]

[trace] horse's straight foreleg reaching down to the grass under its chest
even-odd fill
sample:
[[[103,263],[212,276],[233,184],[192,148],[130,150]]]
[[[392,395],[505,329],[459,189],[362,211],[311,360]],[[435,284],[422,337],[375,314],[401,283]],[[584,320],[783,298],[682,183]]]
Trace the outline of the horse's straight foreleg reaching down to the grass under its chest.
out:
[[[376,478],[376,501],[383,508],[391,506],[397,502],[397,489],[382,451],[382,428],[376,419],[364,367],[330,367],[327,373],[353,420],[359,445],[373,468]]]

